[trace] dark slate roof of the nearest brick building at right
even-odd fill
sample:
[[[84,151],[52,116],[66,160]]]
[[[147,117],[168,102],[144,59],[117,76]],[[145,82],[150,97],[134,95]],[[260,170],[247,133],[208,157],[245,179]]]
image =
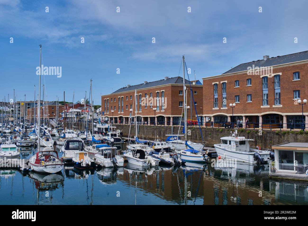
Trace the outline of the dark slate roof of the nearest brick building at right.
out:
[[[287,63],[303,61],[303,60],[308,60],[308,50],[299,52],[299,53],[288,54],[284,56],[270,57],[267,60],[262,59],[262,60],[257,60],[257,61],[251,61],[248,63],[243,63],[240,65],[237,65],[236,67],[230,69],[229,71],[226,71],[223,74],[245,71],[245,70],[248,70],[247,69],[248,67],[253,67],[253,65],[254,67],[269,67],[269,66],[287,64]]]

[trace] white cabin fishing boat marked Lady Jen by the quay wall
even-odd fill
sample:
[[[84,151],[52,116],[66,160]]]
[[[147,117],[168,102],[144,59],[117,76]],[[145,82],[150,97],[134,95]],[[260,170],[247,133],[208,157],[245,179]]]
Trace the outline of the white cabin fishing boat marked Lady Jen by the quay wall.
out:
[[[221,137],[221,143],[215,144],[214,148],[217,154],[226,159],[236,159],[239,162],[268,164],[270,159],[270,149],[253,149],[249,147],[249,141],[240,137],[235,128],[234,133],[230,133],[229,137]]]

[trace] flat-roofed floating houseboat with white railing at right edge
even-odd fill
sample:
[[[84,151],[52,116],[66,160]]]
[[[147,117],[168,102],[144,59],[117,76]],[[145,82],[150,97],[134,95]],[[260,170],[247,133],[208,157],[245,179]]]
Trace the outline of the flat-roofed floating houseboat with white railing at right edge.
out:
[[[270,177],[308,180],[308,143],[288,142],[272,146]]]

